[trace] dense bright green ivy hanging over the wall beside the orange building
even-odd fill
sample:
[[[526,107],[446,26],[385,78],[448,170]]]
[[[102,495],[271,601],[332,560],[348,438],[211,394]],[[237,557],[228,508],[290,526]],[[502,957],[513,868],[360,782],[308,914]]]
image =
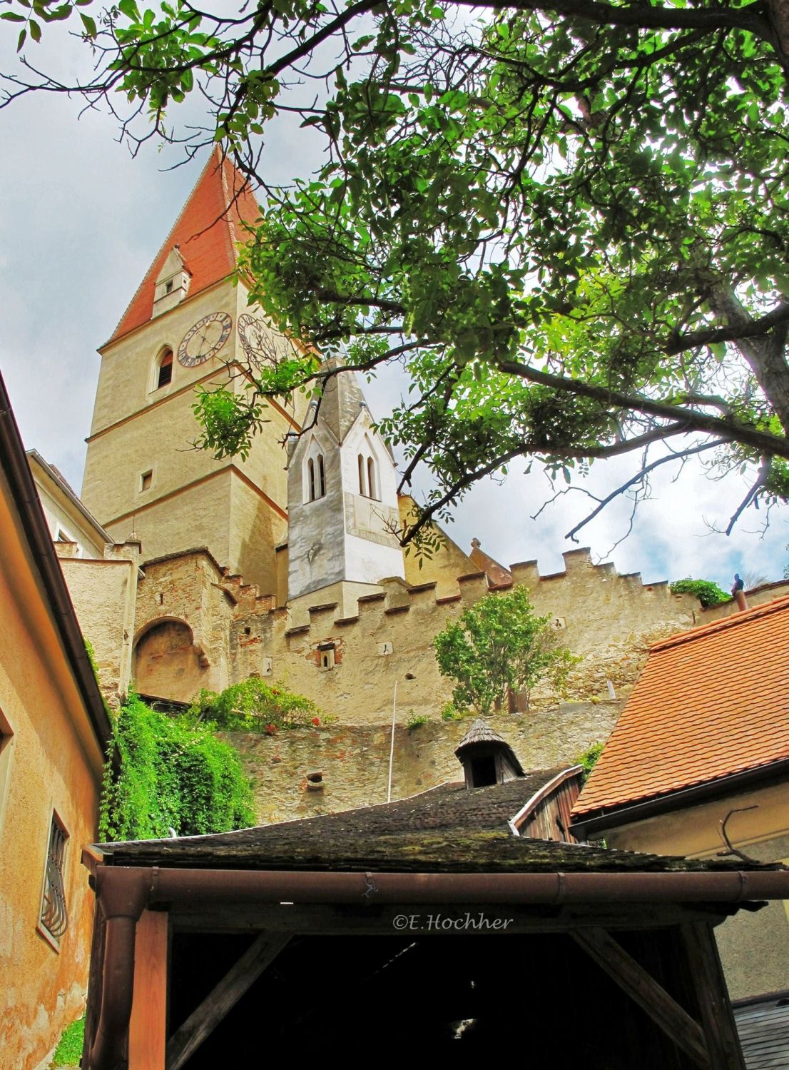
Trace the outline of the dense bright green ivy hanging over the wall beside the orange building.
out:
[[[129,694],[113,722],[120,773],[105,766],[99,836],[150,840],[254,824],[252,793],[234,747],[212,723],[151,709]]]

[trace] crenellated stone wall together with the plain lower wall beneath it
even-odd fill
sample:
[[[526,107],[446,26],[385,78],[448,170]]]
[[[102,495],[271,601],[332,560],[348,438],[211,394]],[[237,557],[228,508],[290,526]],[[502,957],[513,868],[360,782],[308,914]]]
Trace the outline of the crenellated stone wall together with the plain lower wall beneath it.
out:
[[[581,658],[566,694],[535,689],[525,713],[497,718],[525,767],[572,764],[606,739],[652,642],[736,611],[733,602],[702,610],[667,583],[619,576],[610,564],[593,565],[588,550],[566,553],[562,572],[541,576],[536,562],[523,562],[511,574]],[[137,688],[188,702],[200,688],[218,691],[258,674],[316,703],[315,729],[233,735],[261,822],[385,801],[392,713],[392,797],[457,779],[454,748],[467,722],[440,719],[451,683],[438,673],[432,642],[488,593],[485,574],[453,586],[444,577],[415,585],[392,578],[381,587],[358,598],[318,592],[294,614],[204,548],[150,561],[137,595]],[[771,584],[752,603],[783,593]],[[417,717],[428,722],[409,729]],[[321,773],[322,786],[309,786],[308,773]]]

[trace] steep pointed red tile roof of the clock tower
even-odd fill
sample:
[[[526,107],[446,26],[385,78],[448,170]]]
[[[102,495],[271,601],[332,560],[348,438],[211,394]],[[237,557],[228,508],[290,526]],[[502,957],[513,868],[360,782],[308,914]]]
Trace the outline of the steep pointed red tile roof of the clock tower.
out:
[[[244,224],[260,216],[256,197],[245,178],[217,146],[197,185],[123,314],[110,341],[148,323],[153,312],[154,285],[173,245],[180,246],[191,276],[189,296],[227,278],[237,263],[237,244]]]

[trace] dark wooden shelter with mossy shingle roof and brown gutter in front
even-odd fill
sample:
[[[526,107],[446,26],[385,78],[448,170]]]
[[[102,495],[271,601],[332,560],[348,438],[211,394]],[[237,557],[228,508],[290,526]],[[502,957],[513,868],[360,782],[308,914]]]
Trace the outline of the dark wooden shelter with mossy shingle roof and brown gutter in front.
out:
[[[501,789],[481,790],[492,812]],[[405,802],[89,849],[83,1067],[476,1061],[537,1043],[554,1068],[743,1070],[713,927],[789,896],[789,873],[529,840],[476,804],[451,825],[454,805],[442,822],[435,798],[421,820]]]

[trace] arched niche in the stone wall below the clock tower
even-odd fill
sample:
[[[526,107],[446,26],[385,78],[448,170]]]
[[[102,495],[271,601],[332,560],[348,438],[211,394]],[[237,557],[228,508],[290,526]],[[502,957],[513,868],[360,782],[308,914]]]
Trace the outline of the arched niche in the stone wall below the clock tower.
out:
[[[189,702],[208,685],[207,659],[191,628],[177,617],[152,621],[135,644],[133,678],[139,694]]]

